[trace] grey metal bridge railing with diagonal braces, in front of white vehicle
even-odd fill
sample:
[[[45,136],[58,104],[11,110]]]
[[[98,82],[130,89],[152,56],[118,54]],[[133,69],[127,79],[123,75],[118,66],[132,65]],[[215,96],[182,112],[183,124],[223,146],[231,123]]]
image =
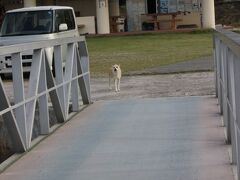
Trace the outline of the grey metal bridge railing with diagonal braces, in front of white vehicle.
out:
[[[48,47],[54,51],[54,73],[45,52]],[[63,47],[66,57],[62,55]],[[33,50],[33,56],[26,89],[22,53],[29,50]],[[11,55],[13,99],[10,100],[5,82],[0,79],[0,116],[12,150],[24,152],[31,148],[36,112],[39,134],[46,135],[51,132],[50,109],[57,123],[63,123],[80,110],[81,104],[90,103],[88,50],[85,37],[74,37],[0,47],[0,56],[6,54]]]

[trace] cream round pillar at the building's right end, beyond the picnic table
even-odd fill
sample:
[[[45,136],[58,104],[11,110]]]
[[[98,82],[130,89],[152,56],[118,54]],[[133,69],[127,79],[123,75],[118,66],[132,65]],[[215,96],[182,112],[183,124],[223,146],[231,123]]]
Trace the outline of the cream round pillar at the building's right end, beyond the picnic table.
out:
[[[202,24],[203,28],[215,29],[214,0],[202,0]]]

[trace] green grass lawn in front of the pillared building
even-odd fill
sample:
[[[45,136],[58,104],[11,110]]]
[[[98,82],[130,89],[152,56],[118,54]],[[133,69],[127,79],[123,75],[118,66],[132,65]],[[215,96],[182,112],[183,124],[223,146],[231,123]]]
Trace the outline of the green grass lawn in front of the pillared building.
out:
[[[159,33],[129,36],[87,37],[93,76],[121,64],[130,71],[173,64],[212,54],[212,32]]]

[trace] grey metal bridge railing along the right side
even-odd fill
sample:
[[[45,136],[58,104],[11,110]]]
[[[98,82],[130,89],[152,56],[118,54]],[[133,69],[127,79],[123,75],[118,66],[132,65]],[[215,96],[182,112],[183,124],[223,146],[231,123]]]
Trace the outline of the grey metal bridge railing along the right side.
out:
[[[218,28],[214,32],[216,94],[232,163],[240,179],[240,34]]]

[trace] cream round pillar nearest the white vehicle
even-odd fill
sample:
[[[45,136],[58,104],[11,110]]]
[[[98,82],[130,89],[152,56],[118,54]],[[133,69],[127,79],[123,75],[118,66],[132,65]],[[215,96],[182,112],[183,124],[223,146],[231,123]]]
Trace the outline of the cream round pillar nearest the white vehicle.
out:
[[[97,32],[98,34],[109,34],[109,9],[108,0],[96,0]]]

